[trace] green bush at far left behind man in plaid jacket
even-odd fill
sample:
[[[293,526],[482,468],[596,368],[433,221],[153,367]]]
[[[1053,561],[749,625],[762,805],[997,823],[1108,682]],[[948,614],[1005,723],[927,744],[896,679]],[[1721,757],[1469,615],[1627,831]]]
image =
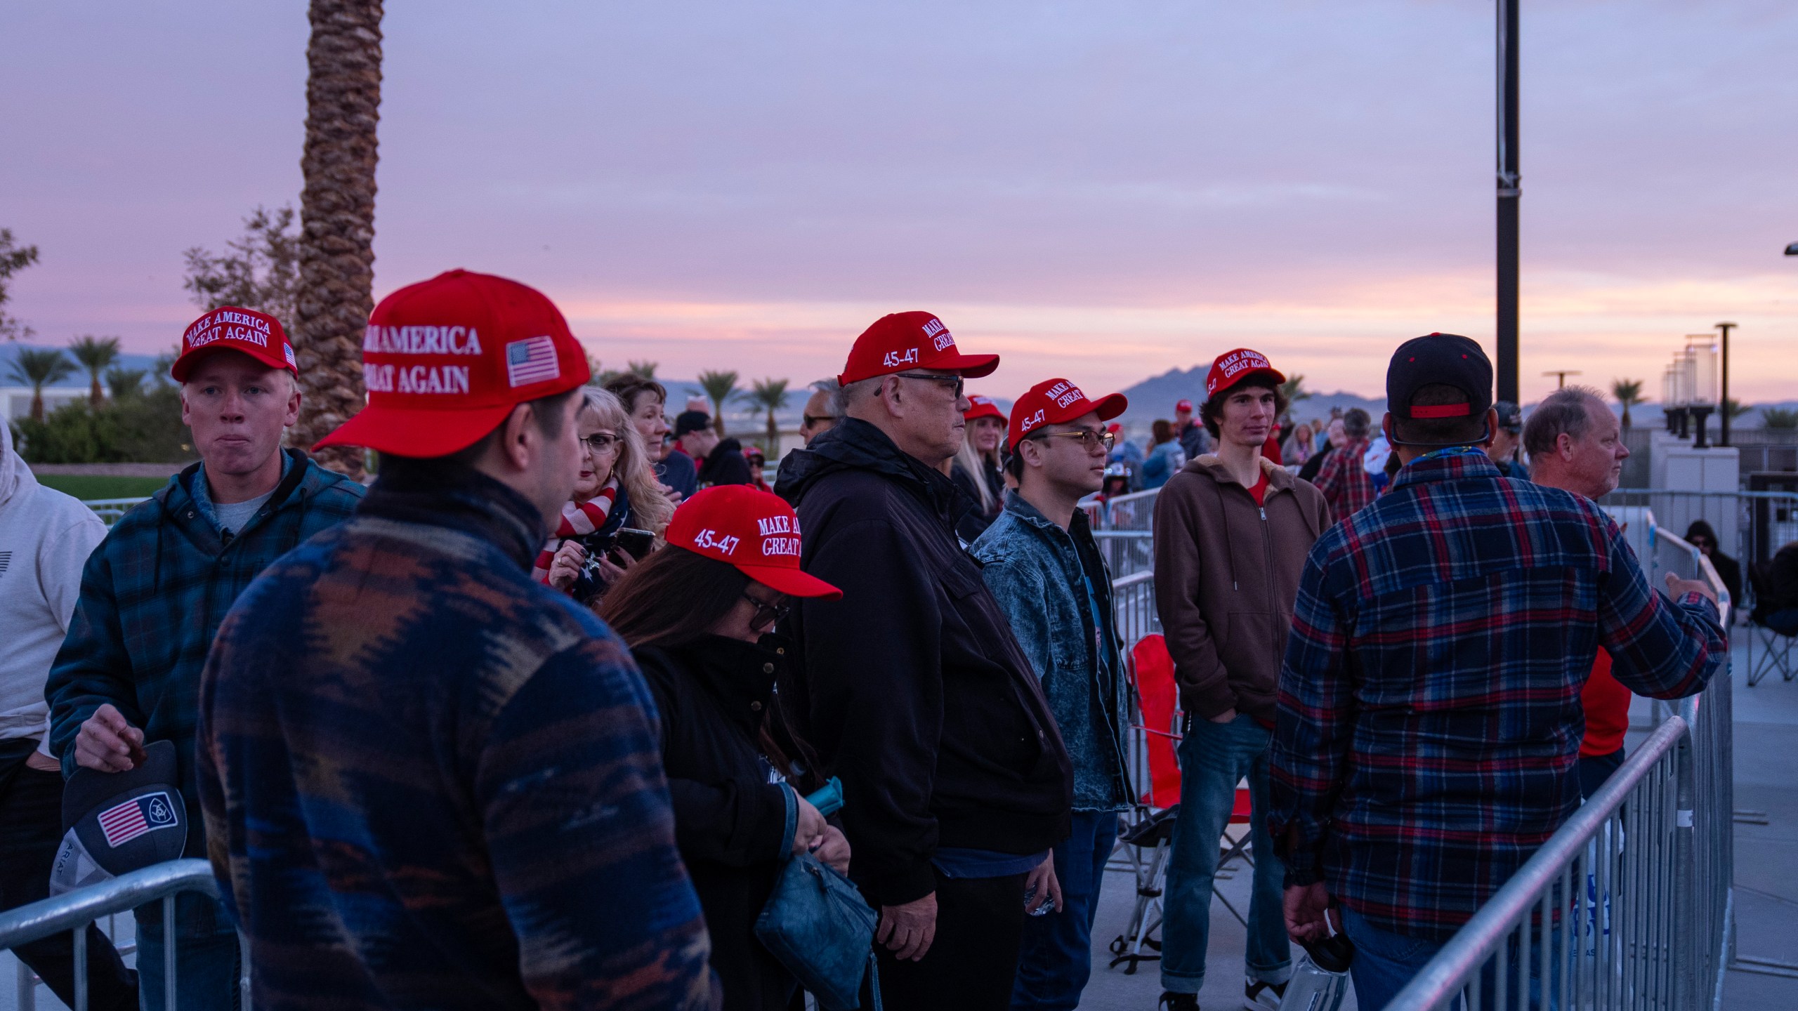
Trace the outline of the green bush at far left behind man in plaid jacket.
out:
[[[180,462],[198,459],[182,425],[180,389],[158,383],[92,407],[67,403],[43,421],[13,423],[18,452],[34,464]]]

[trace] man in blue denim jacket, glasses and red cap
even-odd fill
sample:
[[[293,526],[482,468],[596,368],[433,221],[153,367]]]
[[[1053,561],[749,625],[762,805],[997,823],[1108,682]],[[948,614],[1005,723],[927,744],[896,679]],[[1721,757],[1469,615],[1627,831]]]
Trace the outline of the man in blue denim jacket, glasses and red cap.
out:
[[[1068,380],[1018,398],[1005,466],[1018,491],[975,541],[980,576],[1005,610],[1018,646],[1043,682],[1073,763],[1073,828],[1055,844],[1052,910],[1025,925],[1012,1007],[1072,1011],[1091,975],[1099,885],[1131,806],[1124,759],[1124,658],[1111,622],[1111,574],[1081,498],[1104,484],[1111,435],[1104,423],[1129,401],[1097,401]],[[1050,894],[1032,896],[1032,910]]]

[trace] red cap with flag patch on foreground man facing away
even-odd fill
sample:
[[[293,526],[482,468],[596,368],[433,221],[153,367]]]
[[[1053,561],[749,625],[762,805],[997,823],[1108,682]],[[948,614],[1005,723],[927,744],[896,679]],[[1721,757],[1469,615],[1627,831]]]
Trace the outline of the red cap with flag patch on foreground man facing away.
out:
[[[361,340],[369,407],[318,446],[446,457],[498,428],[514,407],[590,378],[586,349],[536,288],[451,270],[394,291]]]

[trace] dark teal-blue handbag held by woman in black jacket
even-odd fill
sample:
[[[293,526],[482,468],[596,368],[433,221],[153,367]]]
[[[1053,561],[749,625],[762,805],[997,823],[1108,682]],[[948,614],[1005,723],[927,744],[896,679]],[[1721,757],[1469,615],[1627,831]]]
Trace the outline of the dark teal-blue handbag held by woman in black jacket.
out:
[[[827,1011],[861,1007],[863,970],[874,971],[879,914],[849,878],[811,853],[791,856],[755,917],[755,937]],[[879,980],[874,1011],[881,1009]]]

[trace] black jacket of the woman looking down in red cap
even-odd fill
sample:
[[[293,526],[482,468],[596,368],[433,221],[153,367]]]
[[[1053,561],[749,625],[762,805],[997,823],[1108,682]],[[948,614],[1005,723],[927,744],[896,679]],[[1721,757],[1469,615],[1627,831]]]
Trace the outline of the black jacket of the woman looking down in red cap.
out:
[[[726,1011],[784,1009],[797,986],[755,939],[788,835],[788,790],[770,783],[757,732],[784,644],[705,635],[636,649],[662,714],[662,765],[674,801],[674,842],[712,934]]]

